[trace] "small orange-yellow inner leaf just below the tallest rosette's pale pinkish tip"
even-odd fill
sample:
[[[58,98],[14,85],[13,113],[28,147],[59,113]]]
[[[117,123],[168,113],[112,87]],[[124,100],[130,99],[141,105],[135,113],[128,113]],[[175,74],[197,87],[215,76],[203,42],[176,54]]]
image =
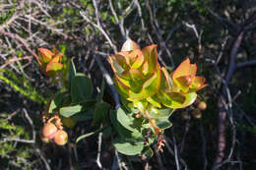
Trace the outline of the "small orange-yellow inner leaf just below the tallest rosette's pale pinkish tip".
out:
[[[132,69],[138,69],[144,62],[144,56],[140,49],[134,50],[129,54],[130,66]]]

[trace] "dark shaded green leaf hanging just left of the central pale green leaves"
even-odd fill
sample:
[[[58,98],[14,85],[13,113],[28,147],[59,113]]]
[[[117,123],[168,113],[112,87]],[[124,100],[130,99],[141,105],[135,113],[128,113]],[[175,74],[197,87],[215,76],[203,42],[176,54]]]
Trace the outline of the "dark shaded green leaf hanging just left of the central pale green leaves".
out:
[[[108,103],[105,103],[105,102],[96,103],[93,126],[100,125],[100,123],[104,119],[106,119],[109,108],[110,108],[110,105]]]

